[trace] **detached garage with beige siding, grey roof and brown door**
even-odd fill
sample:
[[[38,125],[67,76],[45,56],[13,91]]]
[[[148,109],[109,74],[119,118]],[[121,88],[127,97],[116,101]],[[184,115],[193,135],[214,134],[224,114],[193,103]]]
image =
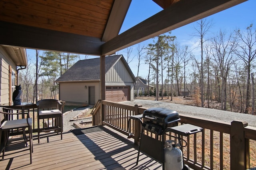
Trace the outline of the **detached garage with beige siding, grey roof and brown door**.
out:
[[[133,101],[134,82],[130,67],[122,55],[105,59],[106,100]],[[100,99],[100,58],[80,60],[57,80],[59,99],[68,105],[94,105]]]

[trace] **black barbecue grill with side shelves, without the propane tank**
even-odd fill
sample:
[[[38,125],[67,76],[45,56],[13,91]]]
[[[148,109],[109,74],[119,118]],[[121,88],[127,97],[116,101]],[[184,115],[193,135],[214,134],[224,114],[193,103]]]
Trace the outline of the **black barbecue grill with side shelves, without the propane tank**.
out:
[[[164,134],[170,131],[175,132],[179,135],[180,140],[180,135],[187,136],[189,134],[202,131],[202,128],[194,125],[187,124],[178,126],[180,117],[174,110],[153,107],[146,109],[141,115],[129,117],[128,138],[132,137],[132,133],[130,132],[130,119],[138,120],[142,125],[136,165],[138,165],[140,151],[142,151],[144,154],[147,154],[158,162],[161,162],[162,168],[164,169]],[[178,126],[178,128],[176,128],[176,126]],[[156,137],[152,138],[146,135],[144,133],[145,130],[154,133]],[[162,141],[158,140],[158,135],[162,136]]]

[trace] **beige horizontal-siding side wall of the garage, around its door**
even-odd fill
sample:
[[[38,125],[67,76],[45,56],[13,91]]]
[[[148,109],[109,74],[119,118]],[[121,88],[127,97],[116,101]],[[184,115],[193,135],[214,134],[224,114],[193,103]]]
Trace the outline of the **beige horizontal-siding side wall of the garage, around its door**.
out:
[[[65,101],[67,105],[87,105],[90,86],[95,87],[95,103],[97,103],[100,99],[99,90],[97,90],[100,89],[99,82],[60,83],[60,100]]]

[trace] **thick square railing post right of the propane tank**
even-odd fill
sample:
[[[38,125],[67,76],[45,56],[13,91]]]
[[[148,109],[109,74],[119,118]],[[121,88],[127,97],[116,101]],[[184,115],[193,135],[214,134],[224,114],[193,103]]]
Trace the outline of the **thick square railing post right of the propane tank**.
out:
[[[232,121],[230,132],[230,169],[246,169],[246,139],[244,127],[248,126],[245,121]]]

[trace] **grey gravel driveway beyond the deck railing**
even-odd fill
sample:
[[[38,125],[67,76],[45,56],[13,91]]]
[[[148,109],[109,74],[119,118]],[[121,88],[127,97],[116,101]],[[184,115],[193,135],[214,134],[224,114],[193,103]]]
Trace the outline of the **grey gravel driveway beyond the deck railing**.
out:
[[[122,104],[126,105],[142,105],[142,107],[164,107],[177,111],[182,115],[195,116],[205,119],[212,119],[216,121],[232,122],[234,120],[246,121],[248,126],[256,127],[256,116],[244,114],[244,113],[235,113],[229,111],[222,111],[217,109],[208,109],[196,106],[189,105],[179,105],[174,103],[166,103],[161,101],[152,101],[152,100],[140,100],[136,99],[134,101],[125,101]]]

